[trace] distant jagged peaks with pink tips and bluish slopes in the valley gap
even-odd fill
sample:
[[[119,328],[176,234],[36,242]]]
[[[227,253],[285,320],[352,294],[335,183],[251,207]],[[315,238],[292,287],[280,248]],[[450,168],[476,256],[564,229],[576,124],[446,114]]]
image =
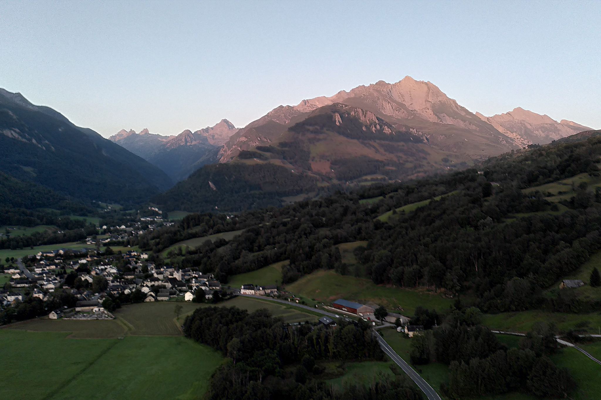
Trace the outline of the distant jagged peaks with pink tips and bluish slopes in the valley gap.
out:
[[[121,130],[109,139],[159,167],[174,181],[181,181],[204,164],[216,163],[219,148],[237,131],[222,119],[194,133],[185,130],[177,136],[162,136],[146,129],[139,134]]]

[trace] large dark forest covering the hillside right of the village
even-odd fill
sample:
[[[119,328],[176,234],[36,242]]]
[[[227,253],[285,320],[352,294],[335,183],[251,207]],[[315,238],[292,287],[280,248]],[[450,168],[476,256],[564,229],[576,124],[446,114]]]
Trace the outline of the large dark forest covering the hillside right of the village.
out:
[[[230,275],[290,260],[282,270],[281,282],[287,283],[320,268],[346,273],[336,245],[367,240],[355,254],[376,284],[471,291],[486,312],[601,309],[598,302],[541,295],[599,250],[601,193],[586,185],[574,188],[575,196],[560,202],[569,209],[558,213],[557,203],[545,199],[548,193],[522,191],[579,173],[596,178],[599,154],[597,137],[538,146],[492,158],[478,169],[373,185],[281,208],[188,216],[130,244],[159,252],[189,237],[244,229],[229,242],[189,249],[176,262],[213,272],[225,283]],[[412,212],[396,212],[442,194],[449,195]],[[371,203],[360,201],[379,196]],[[387,220],[377,218],[389,210]]]

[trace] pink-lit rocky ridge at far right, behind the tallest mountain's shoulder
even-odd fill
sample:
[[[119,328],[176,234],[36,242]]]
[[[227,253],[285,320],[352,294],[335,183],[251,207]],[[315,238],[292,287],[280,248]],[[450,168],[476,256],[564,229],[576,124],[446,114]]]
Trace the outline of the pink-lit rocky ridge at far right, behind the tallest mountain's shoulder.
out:
[[[590,131],[591,128],[576,122],[562,119],[557,122],[548,115],[540,115],[521,107],[517,107],[508,113],[486,117],[476,113],[482,121],[488,122],[499,132],[507,136],[515,137],[520,144],[531,145],[533,143],[545,144],[563,137],[572,136],[581,131]],[[519,138],[519,139],[517,139]]]

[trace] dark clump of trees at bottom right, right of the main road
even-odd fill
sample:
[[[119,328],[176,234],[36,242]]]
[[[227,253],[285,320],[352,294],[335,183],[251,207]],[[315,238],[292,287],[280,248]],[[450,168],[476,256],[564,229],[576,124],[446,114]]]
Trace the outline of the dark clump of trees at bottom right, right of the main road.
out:
[[[420,310],[419,314],[412,323],[424,317],[427,322],[431,312]],[[508,349],[480,325],[477,308],[453,309],[440,326],[414,336],[411,362],[423,365],[436,360],[448,365],[450,383],[441,384],[441,392],[454,399],[513,390],[565,398],[576,383],[567,369],[558,368],[548,357],[558,350],[555,330],[547,323],[536,323],[519,348]]]

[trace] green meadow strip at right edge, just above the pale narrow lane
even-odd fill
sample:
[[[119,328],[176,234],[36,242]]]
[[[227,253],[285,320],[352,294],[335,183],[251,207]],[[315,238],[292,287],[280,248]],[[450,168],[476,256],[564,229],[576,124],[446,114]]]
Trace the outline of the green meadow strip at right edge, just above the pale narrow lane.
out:
[[[568,314],[565,312],[532,310],[484,314],[482,318],[482,323],[490,329],[523,333],[531,330],[532,324],[536,321],[555,323],[562,332],[579,329],[597,333],[598,327],[601,326],[601,315],[598,312],[591,314]]]

